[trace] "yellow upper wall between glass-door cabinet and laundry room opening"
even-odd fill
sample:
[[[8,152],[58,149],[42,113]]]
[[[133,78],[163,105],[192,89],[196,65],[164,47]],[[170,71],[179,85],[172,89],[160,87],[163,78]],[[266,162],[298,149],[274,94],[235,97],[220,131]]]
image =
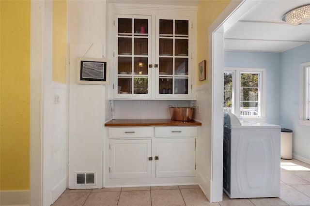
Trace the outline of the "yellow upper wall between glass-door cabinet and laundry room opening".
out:
[[[231,0],[200,0],[197,11],[197,67],[206,60],[206,80],[198,81],[197,86],[208,83],[208,28]]]

